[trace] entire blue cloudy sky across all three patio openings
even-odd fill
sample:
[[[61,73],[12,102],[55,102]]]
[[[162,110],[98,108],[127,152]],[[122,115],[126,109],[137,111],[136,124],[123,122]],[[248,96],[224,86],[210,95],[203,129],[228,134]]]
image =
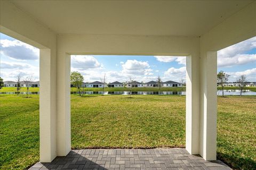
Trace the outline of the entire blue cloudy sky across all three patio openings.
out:
[[[16,81],[33,75],[39,80],[39,49],[0,33],[0,76],[4,81]],[[186,57],[176,56],[102,56],[73,55],[71,71],[82,73],[84,82],[100,81],[106,74],[106,82],[186,81]],[[247,81],[256,82],[256,37],[218,51],[218,72],[230,75],[229,82],[244,74]]]

